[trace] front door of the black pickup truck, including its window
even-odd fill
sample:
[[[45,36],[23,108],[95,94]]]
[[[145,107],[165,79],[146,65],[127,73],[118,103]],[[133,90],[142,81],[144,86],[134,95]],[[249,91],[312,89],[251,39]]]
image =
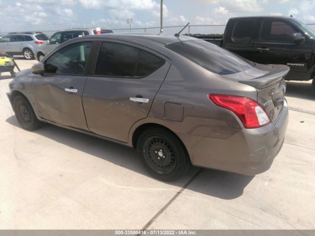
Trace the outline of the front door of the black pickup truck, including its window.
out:
[[[284,64],[290,72],[305,72],[312,50],[305,43],[291,41],[292,34],[299,32],[293,24],[281,19],[263,20],[257,41],[254,43],[254,62],[262,64]]]

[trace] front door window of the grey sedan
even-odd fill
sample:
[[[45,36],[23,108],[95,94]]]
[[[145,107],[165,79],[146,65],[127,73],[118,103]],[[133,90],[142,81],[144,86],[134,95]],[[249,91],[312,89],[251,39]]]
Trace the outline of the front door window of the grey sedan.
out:
[[[47,59],[46,73],[84,74],[85,64],[89,57],[92,42],[69,45]]]

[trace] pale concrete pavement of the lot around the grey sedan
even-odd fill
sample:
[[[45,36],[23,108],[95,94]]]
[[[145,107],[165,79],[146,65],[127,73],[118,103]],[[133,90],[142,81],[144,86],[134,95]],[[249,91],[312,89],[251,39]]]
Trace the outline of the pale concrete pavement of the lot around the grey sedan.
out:
[[[35,60],[17,59],[21,69]],[[0,76],[0,229],[315,229],[315,94],[287,82],[289,124],[270,170],[147,175],[135,150],[53,125],[23,130]]]

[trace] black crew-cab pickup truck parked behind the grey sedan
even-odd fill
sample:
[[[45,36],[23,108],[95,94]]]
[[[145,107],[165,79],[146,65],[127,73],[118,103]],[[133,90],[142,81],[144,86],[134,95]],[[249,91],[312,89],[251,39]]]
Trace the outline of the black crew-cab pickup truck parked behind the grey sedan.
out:
[[[290,67],[286,80],[313,79],[315,92],[315,30],[292,17],[235,17],[222,39],[205,39],[261,64]]]

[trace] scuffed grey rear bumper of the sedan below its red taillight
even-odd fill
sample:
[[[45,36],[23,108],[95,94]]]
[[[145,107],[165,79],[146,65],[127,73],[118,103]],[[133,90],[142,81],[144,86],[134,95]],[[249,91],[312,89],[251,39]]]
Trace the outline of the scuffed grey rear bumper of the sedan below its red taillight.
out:
[[[188,149],[191,163],[243,175],[268,170],[281,150],[288,123],[286,101],[275,123],[256,129],[241,129],[228,139],[179,135]]]

